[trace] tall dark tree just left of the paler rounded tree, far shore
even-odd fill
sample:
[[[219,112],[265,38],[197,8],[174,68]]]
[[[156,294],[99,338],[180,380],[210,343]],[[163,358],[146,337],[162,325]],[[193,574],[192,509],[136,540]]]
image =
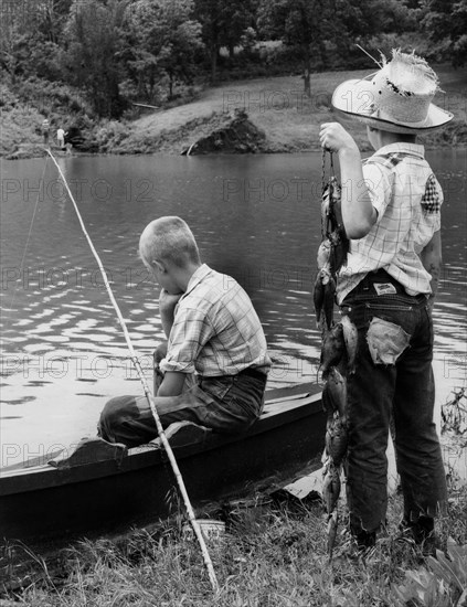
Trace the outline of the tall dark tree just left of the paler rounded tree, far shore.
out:
[[[118,118],[118,51],[126,0],[74,0],[66,28],[65,65],[72,84],[84,88],[98,116]]]

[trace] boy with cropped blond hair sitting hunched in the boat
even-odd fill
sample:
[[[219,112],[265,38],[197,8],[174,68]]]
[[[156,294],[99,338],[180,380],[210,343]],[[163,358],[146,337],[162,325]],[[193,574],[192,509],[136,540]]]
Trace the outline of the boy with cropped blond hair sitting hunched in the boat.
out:
[[[188,420],[217,433],[241,433],[259,417],[270,360],[262,324],[245,290],[202,264],[180,217],[152,221],[139,241],[145,266],[161,287],[168,338],[155,397],[162,427]],[[146,396],[117,396],[100,414],[98,435],[128,447],[157,437]]]

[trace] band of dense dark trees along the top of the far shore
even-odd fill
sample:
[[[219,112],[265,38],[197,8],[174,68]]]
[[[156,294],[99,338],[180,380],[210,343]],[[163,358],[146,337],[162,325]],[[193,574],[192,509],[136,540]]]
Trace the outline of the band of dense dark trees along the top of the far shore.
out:
[[[467,60],[467,0],[0,0],[1,105],[120,118],[226,79]]]

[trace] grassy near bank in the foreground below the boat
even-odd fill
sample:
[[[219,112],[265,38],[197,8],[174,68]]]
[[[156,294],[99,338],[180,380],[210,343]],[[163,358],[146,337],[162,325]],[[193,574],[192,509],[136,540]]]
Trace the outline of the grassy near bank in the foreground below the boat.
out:
[[[341,523],[332,563],[321,503],[283,502],[259,513],[244,510],[222,540],[209,542],[217,595],[180,523],[70,549],[59,568],[43,568],[40,581],[8,600],[34,607],[454,607],[467,585],[467,488],[452,488],[450,496],[439,539],[446,549],[450,537],[458,554],[448,547],[449,567],[439,554],[436,573],[436,563],[399,532],[397,496],[390,499],[386,532],[364,556],[352,551]],[[456,567],[458,582],[448,571]]]

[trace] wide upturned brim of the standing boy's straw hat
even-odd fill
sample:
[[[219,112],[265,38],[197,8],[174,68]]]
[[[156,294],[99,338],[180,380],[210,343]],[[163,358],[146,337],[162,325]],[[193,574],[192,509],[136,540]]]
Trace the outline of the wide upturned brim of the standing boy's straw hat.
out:
[[[445,126],[453,119],[453,114],[435,104],[429,104],[424,124],[411,126],[407,123],[385,120],[372,116],[373,92],[368,79],[350,79],[340,84],[332,94],[331,106],[339,116],[357,120],[369,127],[390,132],[422,135]]]

